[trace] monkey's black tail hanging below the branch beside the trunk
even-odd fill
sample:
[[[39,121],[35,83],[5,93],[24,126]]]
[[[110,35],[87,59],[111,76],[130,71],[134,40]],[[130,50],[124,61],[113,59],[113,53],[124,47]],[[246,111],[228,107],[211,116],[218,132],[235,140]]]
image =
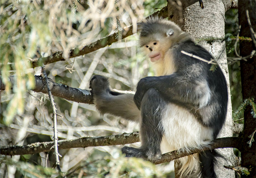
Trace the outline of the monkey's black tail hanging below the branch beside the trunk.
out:
[[[201,176],[217,178],[214,171],[214,166],[217,164],[217,158],[225,159],[220,153],[215,150],[209,150],[199,153]]]

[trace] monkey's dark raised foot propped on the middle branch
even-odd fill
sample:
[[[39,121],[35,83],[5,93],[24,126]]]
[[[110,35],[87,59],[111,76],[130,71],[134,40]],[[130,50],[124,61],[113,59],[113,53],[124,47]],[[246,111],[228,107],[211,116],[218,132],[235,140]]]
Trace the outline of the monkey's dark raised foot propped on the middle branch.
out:
[[[110,90],[108,79],[101,75],[94,75],[92,77],[89,88],[92,89],[92,97],[104,94]]]

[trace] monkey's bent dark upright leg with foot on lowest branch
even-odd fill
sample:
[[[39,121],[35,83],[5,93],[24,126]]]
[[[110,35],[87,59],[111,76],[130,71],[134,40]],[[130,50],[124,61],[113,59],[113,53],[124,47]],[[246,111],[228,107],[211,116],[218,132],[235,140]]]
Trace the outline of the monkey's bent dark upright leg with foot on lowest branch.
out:
[[[156,89],[148,89],[141,102],[141,125],[139,149],[123,147],[126,156],[146,157],[149,160],[161,158],[160,143],[163,136],[162,113],[165,101]]]

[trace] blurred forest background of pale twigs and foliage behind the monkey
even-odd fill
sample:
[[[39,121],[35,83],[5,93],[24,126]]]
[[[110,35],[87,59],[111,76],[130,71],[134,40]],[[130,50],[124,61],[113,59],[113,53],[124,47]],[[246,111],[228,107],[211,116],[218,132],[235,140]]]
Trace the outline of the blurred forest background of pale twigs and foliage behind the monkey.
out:
[[[63,51],[63,57],[68,58],[69,50],[81,49],[114,32],[118,34],[116,38],[120,38],[119,27],[136,27],[137,21],[166,5],[166,0],[119,0],[115,3],[1,0],[1,77],[6,83],[6,90],[1,91],[1,146],[52,141],[49,97],[27,90],[34,86],[34,75],[41,74],[40,67],[30,67],[31,61],[56,51]],[[238,32],[238,10],[228,10],[225,18],[227,55],[232,58]],[[112,88],[134,91],[140,78],[154,75],[148,59],[136,46],[136,40],[137,34],[134,34],[89,54],[46,65],[47,75],[55,82],[88,89],[92,75],[100,74],[109,77]],[[242,103],[239,61],[231,60],[228,67],[235,111]],[[10,75],[15,76],[13,89],[7,82]],[[138,130],[136,124],[122,118],[100,116],[92,104],[59,97],[54,97],[54,101],[58,114],[63,116],[58,117],[59,139]],[[69,177],[174,177],[173,163],[154,166],[140,159],[125,159],[120,156],[120,148],[119,145],[59,150],[61,170]],[[50,169],[55,164],[53,152],[49,152],[47,160],[46,157],[45,152],[12,156],[12,159],[1,155],[1,177],[58,176],[55,169]],[[43,168],[45,163],[49,169]]]

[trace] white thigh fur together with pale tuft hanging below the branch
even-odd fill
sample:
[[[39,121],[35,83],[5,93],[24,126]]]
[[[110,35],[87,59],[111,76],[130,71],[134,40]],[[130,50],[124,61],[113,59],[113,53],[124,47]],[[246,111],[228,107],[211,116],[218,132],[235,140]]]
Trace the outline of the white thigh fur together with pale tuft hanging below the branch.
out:
[[[208,146],[213,139],[212,129],[200,124],[193,114],[176,104],[168,104],[162,117],[164,135],[161,143],[162,154],[178,149]],[[180,174],[191,174],[198,170],[198,153],[180,158]]]

